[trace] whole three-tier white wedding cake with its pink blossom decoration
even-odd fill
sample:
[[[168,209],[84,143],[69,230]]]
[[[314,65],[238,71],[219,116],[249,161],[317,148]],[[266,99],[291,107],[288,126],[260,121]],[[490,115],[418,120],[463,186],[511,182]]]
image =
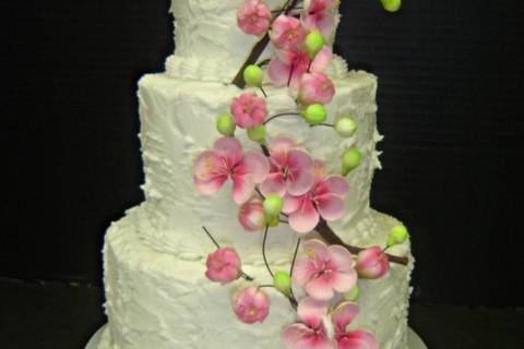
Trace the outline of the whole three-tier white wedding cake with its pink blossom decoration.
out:
[[[172,1],[92,348],[408,348],[407,229],[369,202],[377,79],[332,53],[337,7]]]

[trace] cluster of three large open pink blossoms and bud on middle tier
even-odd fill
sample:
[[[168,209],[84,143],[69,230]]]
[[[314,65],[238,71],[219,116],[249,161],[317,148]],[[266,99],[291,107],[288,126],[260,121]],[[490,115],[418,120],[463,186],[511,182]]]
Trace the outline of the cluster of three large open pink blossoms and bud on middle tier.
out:
[[[243,154],[238,140],[223,137],[194,161],[193,182],[200,192],[213,194],[230,178],[233,198],[241,205],[239,221],[249,231],[264,226],[262,202],[253,198],[257,184],[263,195],[275,193],[283,197],[283,212],[298,233],[313,230],[320,217],[342,218],[348,192],[344,177],[329,176],[322,161],[289,137],[271,140],[269,152],[269,158],[257,152]]]

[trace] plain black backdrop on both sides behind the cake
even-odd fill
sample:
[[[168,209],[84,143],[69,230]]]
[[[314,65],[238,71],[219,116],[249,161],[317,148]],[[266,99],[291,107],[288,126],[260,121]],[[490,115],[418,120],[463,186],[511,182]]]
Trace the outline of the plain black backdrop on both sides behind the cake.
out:
[[[0,276],[99,284],[142,201],[136,81],[172,51],[167,0],[2,2]],[[336,50],[377,74],[374,207],[410,228],[415,299],[522,304],[522,1],[344,0]]]

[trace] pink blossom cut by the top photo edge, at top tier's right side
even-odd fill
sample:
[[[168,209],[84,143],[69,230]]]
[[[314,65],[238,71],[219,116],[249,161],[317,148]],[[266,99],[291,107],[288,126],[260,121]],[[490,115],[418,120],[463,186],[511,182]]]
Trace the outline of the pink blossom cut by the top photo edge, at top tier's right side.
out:
[[[331,10],[336,0],[306,0],[300,22],[308,31],[318,29],[324,38],[331,37],[335,19]]]

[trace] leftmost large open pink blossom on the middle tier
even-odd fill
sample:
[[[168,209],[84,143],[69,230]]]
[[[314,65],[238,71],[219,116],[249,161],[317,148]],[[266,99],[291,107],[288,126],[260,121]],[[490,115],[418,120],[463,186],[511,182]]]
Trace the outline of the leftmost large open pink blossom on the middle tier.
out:
[[[270,165],[259,153],[242,154],[242,146],[236,139],[224,137],[215,142],[213,151],[203,152],[193,165],[193,182],[203,194],[213,194],[230,178],[233,198],[241,205],[267,176]]]

